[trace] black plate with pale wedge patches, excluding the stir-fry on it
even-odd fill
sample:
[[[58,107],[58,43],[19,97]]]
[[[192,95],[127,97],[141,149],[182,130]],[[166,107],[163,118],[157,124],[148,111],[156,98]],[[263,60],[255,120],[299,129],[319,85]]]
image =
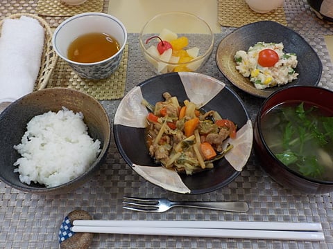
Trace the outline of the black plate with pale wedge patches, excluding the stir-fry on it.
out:
[[[155,163],[146,146],[148,111],[141,102],[143,98],[151,104],[162,101],[162,93],[166,91],[176,96],[180,103],[184,100],[202,103],[203,110],[218,111],[223,118],[237,124],[239,139],[233,141],[234,148],[228,152],[230,157],[227,154],[225,158],[215,162],[213,169],[191,176],[178,174]],[[113,130],[121,156],[137,174],[165,190],[182,194],[203,194],[228,185],[246,165],[253,141],[252,123],[239,96],[219,80],[189,72],[157,75],[135,86],[121,100],[114,116]],[[232,159],[232,154],[237,153],[240,148],[243,151],[237,157],[237,163]]]

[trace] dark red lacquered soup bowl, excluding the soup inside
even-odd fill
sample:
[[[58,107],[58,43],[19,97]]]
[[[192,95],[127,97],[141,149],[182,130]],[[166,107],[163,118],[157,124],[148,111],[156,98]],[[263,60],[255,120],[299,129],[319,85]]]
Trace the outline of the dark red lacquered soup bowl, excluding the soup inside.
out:
[[[320,181],[298,174],[278,160],[269,149],[262,132],[262,118],[282,103],[309,102],[333,113],[333,91],[318,86],[291,86],[271,94],[262,104],[254,127],[253,148],[264,171],[283,187],[307,194],[333,192],[333,181]],[[282,138],[281,138],[282,139]],[[332,165],[333,167],[333,165]]]

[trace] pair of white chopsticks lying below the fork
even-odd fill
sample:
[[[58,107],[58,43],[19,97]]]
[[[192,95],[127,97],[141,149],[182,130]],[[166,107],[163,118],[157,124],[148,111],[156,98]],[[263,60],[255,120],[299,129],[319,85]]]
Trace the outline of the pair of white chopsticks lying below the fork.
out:
[[[325,240],[321,223],[251,221],[94,221],[76,220],[73,232],[145,234],[242,239]]]

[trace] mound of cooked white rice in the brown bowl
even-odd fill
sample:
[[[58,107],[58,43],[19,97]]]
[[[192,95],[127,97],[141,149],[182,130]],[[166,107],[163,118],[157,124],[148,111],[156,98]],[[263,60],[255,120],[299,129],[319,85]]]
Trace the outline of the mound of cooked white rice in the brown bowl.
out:
[[[67,183],[83,174],[101,151],[101,142],[88,135],[83,113],[65,107],[33,117],[26,127],[21,143],[14,146],[22,156],[14,172],[28,185]]]

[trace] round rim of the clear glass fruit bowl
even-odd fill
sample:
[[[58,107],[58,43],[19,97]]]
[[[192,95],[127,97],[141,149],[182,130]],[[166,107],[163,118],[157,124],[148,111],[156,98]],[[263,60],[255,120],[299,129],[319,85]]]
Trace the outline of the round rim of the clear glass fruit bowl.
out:
[[[151,55],[150,53],[147,52],[144,44],[143,44],[143,40],[142,40],[142,33],[144,31],[144,29],[146,28],[146,26],[148,26],[151,21],[153,21],[154,19],[156,19],[157,17],[161,17],[161,16],[166,16],[166,15],[189,15],[191,17],[194,17],[200,21],[203,22],[203,24],[205,24],[205,26],[207,26],[207,28],[210,30],[210,34],[212,35],[212,42],[210,44],[210,47],[205,51],[205,53],[203,55],[200,55],[194,59],[192,59],[190,62],[183,62],[183,63],[175,63],[175,62],[167,62],[167,61],[164,61],[163,59],[160,59],[158,57],[155,57],[153,55]],[[201,17],[198,17],[197,15],[194,15],[194,14],[191,14],[189,12],[181,12],[181,11],[176,11],[176,12],[164,12],[164,13],[160,13],[158,15],[155,15],[155,17],[153,17],[152,19],[150,19],[149,21],[146,22],[146,24],[144,25],[144,28],[142,28],[141,32],[140,32],[140,35],[139,35],[139,42],[140,42],[140,46],[143,48],[144,50],[144,53],[146,53],[149,57],[159,61],[159,62],[164,62],[164,63],[167,63],[169,65],[183,65],[183,64],[189,64],[189,63],[192,63],[192,62],[196,62],[200,59],[203,59],[205,58],[207,55],[210,55],[210,53],[212,53],[212,50],[213,50],[213,47],[214,47],[214,33],[213,33],[213,30],[212,28],[210,27],[210,24],[207,23],[207,21],[205,21],[204,19],[202,19]]]

